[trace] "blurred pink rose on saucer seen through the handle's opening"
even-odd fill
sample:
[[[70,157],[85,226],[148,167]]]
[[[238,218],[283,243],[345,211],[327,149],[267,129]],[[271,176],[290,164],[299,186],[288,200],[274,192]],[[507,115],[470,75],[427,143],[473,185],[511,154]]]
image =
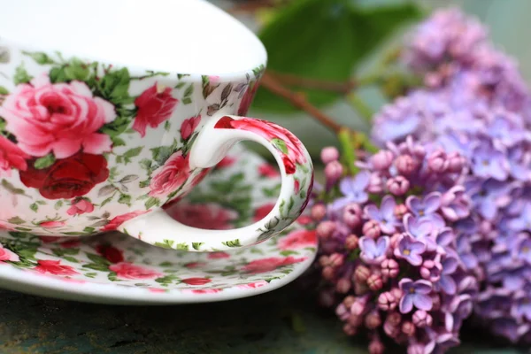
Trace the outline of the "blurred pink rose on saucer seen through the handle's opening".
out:
[[[227,230],[232,228],[231,221],[238,218],[238,213],[221,207],[219,204],[175,204],[168,211],[170,216],[189,227],[206,228],[212,230]]]

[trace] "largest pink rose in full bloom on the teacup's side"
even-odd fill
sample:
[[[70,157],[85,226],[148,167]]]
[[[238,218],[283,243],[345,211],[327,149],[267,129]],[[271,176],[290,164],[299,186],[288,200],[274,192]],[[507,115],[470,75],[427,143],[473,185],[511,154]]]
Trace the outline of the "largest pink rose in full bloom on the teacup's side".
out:
[[[68,158],[81,148],[99,155],[112,147],[109,135],[97,131],[116,118],[114,106],[81,81],[52,84],[42,76],[21,84],[5,98],[0,116],[20,150],[34,157]]]

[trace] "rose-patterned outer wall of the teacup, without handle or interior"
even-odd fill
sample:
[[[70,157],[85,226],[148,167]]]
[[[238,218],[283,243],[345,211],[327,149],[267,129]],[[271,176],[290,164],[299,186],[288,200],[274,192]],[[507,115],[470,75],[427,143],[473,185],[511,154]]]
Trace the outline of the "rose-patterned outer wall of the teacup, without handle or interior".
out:
[[[0,194],[9,205],[0,224],[39,235],[113,230],[188,194],[209,172],[189,167],[199,130],[219,110],[246,112],[264,71],[134,73],[0,45],[9,52],[0,63]]]

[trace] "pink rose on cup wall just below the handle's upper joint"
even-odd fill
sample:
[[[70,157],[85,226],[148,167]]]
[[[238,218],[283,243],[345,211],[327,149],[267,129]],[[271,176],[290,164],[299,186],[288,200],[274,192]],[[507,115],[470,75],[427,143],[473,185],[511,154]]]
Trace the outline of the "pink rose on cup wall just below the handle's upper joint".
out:
[[[189,175],[189,155],[185,158],[181,151],[174,153],[152,177],[150,196],[167,196],[179,189]]]

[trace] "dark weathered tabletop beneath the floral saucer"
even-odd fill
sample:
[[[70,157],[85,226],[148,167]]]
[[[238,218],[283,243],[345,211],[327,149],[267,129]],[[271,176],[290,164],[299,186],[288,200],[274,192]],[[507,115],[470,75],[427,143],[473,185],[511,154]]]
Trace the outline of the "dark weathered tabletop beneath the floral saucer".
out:
[[[0,296],[2,354],[366,353],[297,283],[242,300],[173,306],[81,304],[4,290]],[[493,350],[485,339],[469,333],[452,353],[518,353]]]

